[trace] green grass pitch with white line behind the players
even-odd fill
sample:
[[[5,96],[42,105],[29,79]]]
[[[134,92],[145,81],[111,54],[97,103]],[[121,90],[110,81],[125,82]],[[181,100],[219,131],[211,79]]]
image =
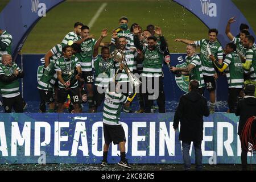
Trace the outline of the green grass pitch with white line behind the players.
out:
[[[46,18],[42,18],[36,24],[23,46],[22,53],[46,53],[52,46],[60,43],[67,32],[72,31],[74,22],[89,23],[98,7],[104,2],[106,1],[67,1],[61,3],[49,11]],[[253,7],[255,7],[256,2],[252,0],[236,0],[233,2],[242,11],[255,31],[256,23],[255,19],[253,19],[255,17]],[[0,10],[7,3],[8,1],[1,1]],[[207,36],[207,27],[192,13],[172,1],[107,1],[107,3],[108,5],[90,30],[96,39],[100,35],[102,28],[106,27],[110,31],[112,28],[117,27],[118,19],[122,15],[126,15],[129,18],[129,25],[136,22],[143,29],[147,24],[155,24],[162,27],[163,34],[168,40],[169,49],[172,53],[184,52],[185,50],[184,44],[174,43],[175,38],[199,40]],[[133,6],[134,4],[135,6]],[[234,35],[236,33],[238,31],[234,31]],[[105,41],[109,39],[110,36]],[[175,166],[171,168],[174,169]],[[113,167],[114,169],[115,167]]]

